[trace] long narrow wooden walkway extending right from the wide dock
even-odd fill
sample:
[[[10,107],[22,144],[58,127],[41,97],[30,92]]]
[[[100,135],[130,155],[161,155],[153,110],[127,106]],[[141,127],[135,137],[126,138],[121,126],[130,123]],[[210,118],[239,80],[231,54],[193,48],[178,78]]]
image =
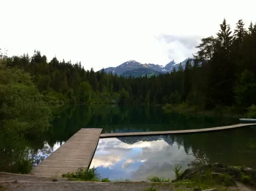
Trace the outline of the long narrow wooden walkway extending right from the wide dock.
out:
[[[237,128],[242,126],[256,125],[256,123],[241,123],[228,126],[218,126],[212,128],[199,128],[199,129],[188,129],[188,130],[167,130],[167,131],[149,131],[149,132],[120,132],[120,133],[102,133],[100,138],[118,137],[118,136],[150,136],[160,134],[178,134],[178,133],[192,133],[192,132],[205,132],[213,130],[223,130],[229,128]]]

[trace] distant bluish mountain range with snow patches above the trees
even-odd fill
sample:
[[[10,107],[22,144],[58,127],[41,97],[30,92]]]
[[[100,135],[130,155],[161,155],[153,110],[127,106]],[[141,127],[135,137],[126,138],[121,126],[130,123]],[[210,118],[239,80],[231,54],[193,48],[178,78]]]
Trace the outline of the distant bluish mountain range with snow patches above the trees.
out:
[[[182,62],[175,62],[174,60],[171,60],[169,63],[166,65],[158,65],[158,64],[153,64],[153,63],[140,63],[135,60],[129,60],[125,61],[122,64],[116,66],[116,67],[107,67],[104,68],[104,71],[107,73],[116,73],[117,75],[122,75],[125,77],[128,76],[142,76],[142,75],[158,75],[159,73],[166,73],[166,72],[171,72],[173,68],[178,69],[179,63],[181,63],[182,67],[185,67],[185,63],[188,60],[185,59]],[[191,65],[193,65],[193,59],[190,61]]]

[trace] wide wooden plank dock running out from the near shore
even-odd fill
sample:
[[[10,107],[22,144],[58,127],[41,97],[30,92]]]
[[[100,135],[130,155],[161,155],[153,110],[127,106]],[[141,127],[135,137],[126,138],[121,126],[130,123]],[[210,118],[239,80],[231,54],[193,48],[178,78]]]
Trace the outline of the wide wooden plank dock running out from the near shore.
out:
[[[35,166],[30,173],[38,176],[59,177],[63,173],[75,172],[79,167],[88,168],[101,131],[102,128],[81,128]]]

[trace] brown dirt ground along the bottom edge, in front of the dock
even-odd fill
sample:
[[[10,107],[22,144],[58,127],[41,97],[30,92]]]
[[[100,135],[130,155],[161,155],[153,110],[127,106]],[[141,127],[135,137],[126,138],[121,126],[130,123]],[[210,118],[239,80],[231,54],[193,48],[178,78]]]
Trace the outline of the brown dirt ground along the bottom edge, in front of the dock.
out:
[[[52,181],[57,179],[57,181]],[[175,186],[175,183],[152,183],[152,182],[89,182],[89,181],[67,181],[66,178],[40,177],[35,175],[13,174],[0,172],[0,190],[100,190],[100,191],[142,191],[143,189],[155,187],[157,190],[193,190],[185,186]],[[229,187],[229,190],[251,191],[255,189],[248,188],[238,183],[238,187]]]

